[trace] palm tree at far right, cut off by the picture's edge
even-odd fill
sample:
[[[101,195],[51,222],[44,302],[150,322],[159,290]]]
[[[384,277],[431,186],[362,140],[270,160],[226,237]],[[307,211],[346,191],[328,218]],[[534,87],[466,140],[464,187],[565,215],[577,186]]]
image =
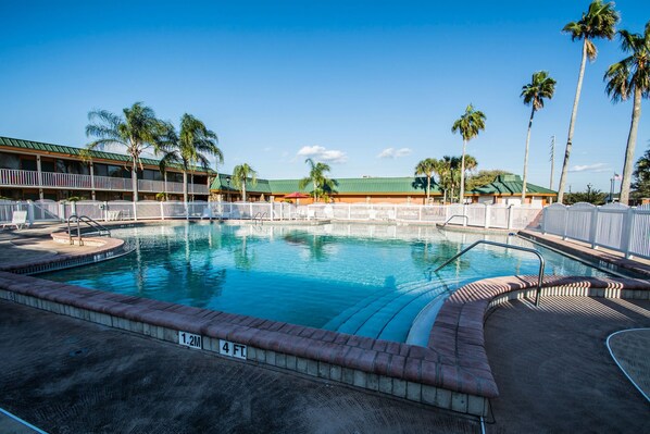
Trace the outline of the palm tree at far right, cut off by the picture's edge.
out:
[[[634,165],[634,148],[637,142],[637,132],[641,117],[641,99],[650,97],[650,22],[646,23],[643,35],[618,32],[621,48],[627,58],[614,63],[604,74],[605,91],[612,102],[625,101],[634,96],[632,108],[632,124],[625,149],[623,179],[621,181],[621,203],[629,201],[629,185]]]

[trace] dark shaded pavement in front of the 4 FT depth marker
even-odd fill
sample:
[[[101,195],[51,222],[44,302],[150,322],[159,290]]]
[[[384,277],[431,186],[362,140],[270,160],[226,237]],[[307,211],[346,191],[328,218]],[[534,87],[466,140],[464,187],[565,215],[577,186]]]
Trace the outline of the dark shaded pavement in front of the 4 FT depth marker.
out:
[[[477,433],[476,419],[0,301],[0,407],[54,433]]]

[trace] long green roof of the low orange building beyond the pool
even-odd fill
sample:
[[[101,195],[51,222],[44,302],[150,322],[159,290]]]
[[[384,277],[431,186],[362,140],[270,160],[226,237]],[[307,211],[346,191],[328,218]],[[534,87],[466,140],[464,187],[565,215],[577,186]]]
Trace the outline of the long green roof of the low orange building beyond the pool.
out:
[[[213,190],[227,190],[226,174],[220,174],[211,185]],[[363,178],[336,178],[335,190],[339,195],[364,195],[377,193],[392,194],[424,194],[426,191],[425,177],[363,177]],[[299,188],[300,179],[258,179],[258,185],[251,187],[247,184],[247,191],[264,193],[272,195],[289,195],[293,191],[308,193],[313,189],[312,184]],[[230,190],[234,190],[230,185]],[[432,193],[440,193],[438,185],[432,179]]]

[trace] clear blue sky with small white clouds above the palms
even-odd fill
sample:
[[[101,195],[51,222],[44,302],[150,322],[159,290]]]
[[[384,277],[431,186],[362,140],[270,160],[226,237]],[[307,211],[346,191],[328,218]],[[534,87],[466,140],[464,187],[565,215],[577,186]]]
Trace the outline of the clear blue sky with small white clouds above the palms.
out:
[[[425,158],[460,156],[451,126],[472,103],[486,129],[479,170],[523,172],[530,108],[520,97],[549,71],[528,181],[557,189],[580,50],[562,27],[589,1],[10,1],[0,0],[0,136],[84,147],[88,112],[136,101],[178,126],[190,113],[218,136],[229,173],[411,176]],[[650,1],[620,0],[618,28],[642,33]],[[597,40],[575,126],[567,186],[609,191],[622,173],[632,101],[612,103],[607,67],[625,54]],[[642,102],[635,161],[650,147]],[[643,113],[646,112],[646,113]],[[116,149],[109,149],[120,151]],[[616,185],[616,189],[618,184]]]

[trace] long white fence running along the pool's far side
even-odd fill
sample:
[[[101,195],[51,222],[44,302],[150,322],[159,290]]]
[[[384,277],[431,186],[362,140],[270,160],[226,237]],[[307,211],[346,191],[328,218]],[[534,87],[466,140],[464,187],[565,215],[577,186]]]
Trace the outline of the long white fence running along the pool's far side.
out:
[[[86,215],[97,221],[235,219],[259,221],[333,220],[393,223],[449,223],[484,228],[520,230],[537,225],[541,208],[502,204],[416,206],[391,203],[207,202],[192,201],[1,201],[0,222],[26,209],[30,223]]]

